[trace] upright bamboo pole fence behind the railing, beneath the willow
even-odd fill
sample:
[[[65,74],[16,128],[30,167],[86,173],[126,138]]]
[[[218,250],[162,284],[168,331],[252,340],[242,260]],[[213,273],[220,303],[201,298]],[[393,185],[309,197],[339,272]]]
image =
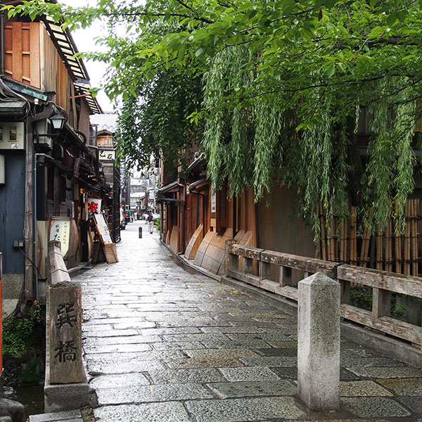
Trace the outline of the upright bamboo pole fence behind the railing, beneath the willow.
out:
[[[395,205],[397,215],[397,205]],[[377,226],[371,235],[368,227],[358,234],[356,208],[350,207],[350,217],[326,222],[319,204],[321,223],[321,258],[323,260],[376,268],[408,276],[420,276],[421,265],[421,200],[409,199],[404,207],[406,225],[403,234],[395,230],[395,221],[388,219],[385,227]]]

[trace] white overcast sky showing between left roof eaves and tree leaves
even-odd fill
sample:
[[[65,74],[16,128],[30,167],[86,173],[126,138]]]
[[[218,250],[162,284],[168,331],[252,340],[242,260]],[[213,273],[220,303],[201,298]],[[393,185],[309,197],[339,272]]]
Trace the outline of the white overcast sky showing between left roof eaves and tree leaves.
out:
[[[95,6],[96,1],[93,0],[59,0],[60,3],[66,4],[72,7],[79,6]],[[81,52],[85,51],[98,51],[94,38],[101,34],[101,23],[94,23],[92,27],[84,30],[76,30],[71,32],[72,37],[75,41],[77,49]],[[91,79],[91,87],[99,87],[103,75],[107,68],[105,63],[94,62],[91,60],[83,60],[84,65],[87,68],[89,78]],[[108,96],[104,91],[98,92],[96,99],[103,109],[104,112],[113,111],[113,104],[108,99]]]

